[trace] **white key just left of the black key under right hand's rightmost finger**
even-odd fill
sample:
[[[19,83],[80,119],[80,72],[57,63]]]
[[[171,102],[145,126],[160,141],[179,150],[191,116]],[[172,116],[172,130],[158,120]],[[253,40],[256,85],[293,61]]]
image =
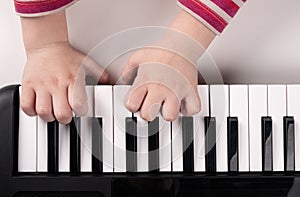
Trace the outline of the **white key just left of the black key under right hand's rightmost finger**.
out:
[[[173,172],[183,171],[182,117],[172,122],[172,166]]]

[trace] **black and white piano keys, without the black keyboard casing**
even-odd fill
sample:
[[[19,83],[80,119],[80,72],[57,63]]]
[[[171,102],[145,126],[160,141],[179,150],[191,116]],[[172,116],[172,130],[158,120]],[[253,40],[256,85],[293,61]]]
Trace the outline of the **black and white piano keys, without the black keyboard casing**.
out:
[[[300,170],[300,85],[200,85],[201,112],[174,122],[129,112],[128,88],[87,87],[88,114],[70,125],[20,110],[18,172]]]

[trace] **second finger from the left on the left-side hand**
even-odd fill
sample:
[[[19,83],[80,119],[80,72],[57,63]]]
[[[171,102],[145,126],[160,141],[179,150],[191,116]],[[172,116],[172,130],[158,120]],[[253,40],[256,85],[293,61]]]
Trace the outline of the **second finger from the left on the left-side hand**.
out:
[[[45,121],[52,122],[55,120],[52,110],[51,94],[47,91],[36,91],[36,113]]]

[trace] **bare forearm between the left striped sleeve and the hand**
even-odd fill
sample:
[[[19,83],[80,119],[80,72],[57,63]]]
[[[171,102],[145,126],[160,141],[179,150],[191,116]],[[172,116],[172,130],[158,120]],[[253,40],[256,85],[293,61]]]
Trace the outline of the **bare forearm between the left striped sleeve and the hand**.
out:
[[[21,17],[21,24],[26,51],[68,41],[64,11],[42,17]]]

